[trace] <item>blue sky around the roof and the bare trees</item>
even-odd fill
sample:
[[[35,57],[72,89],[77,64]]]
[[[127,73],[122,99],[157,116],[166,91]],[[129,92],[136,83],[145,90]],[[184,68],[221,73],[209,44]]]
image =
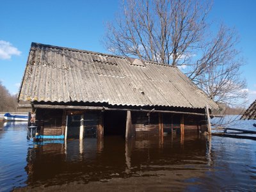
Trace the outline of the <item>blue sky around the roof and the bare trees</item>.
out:
[[[108,52],[100,43],[104,23],[113,20],[120,1],[1,1],[0,81],[17,93],[31,42]],[[210,20],[235,27],[246,60],[243,77],[248,104],[256,99],[256,1],[214,1]],[[3,48],[4,47],[4,48]]]

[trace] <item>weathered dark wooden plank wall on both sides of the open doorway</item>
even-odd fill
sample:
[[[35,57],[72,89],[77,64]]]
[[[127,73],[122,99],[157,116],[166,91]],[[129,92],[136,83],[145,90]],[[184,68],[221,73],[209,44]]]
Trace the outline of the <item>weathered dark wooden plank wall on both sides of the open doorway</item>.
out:
[[[131,117],[131,123],[127,122],[127,125],[132,131],[131,134],[136,134],[136,136],[145,136],[145,134],[147,136],[162,136],[164,132],[167,134],[196,134],[205,127],[205,116],[140,111],[131,111],[130,113],[131,116],[128,114],[128,117]],[[40,134],[64,134],[67,115],[83,115],[83,138],[102,138],[104,136],[104,112],[95,110],[67,111],[66,109],[37,109],[36,122],[41,127]]]

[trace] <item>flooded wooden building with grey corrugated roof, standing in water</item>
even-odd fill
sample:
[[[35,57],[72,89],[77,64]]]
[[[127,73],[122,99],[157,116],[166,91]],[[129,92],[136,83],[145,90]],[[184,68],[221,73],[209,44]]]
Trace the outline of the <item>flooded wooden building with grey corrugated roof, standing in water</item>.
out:
[[[19,100],[29,100],[38,136],[102,138],[204,132],[218,105],[179,68],[31,44]]]

